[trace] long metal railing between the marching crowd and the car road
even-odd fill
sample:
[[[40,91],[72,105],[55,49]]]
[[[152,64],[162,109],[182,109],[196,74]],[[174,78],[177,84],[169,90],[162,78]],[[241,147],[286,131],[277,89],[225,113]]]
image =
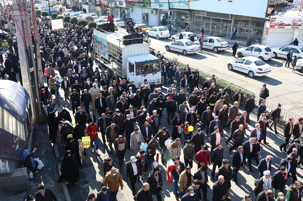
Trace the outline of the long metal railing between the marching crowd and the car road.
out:
[[[169,61],[171,61],[171,57],[165,56],[165,58],[168,58]],[[186,64],[174,59],[176,63],[179,64],[179,66],[181,67],[181,69],[183,70],[186,67]],[[194,68],[190,67],[191,71],[195,71]],[[206,80],[206,78],[211,78],[211,74],[203,72],[201,70],[199,70],[199,87],[202,88],[202,85],[204,83],[204,81]],[[238,89],[241,89],[241,93],[243,94],[244,100],[243,103],[239,103],[239,107],[243,110],[244,109],[244,105],[245,102],[249,99],[249,96],[252,94],[255,97],[255,105],[256,108],[252,111],[252,113],[257,114],[257,107],[261,104],[261,102],[264,100],[262,98],[260,98],[259,96],[257,96],[256,94],[254,94],[251,91],[248,91],[244,88],[241,88],[237,85],[234,85],[232,83],[229,83],[223,79],[217,78],[216,77],[216,92],[219,93],[219,89],[224,89],[225,87],[227,87],[227,85],[231,85],[231,94],[229,94],[231,96],[231,101],[233,102],[233,97],[234,95],[237,93]],[[272,103],[270,101],[265,100],[266,103],[266,110],[269,112],[269,114],[271,114],[271,112],[278,107],[278,103]],[[298,122],[299,117],[303,117],[302,115],[296,114],[291,112],[290,110],[287,110],[285,108],[281,108],[281,114],[280,114],[280,119],[278,119],[277,121],[277,125],[281,126],[282,128],[284,128],[285,123],[288,122],[289,118],[294,118],[294,122]]]

